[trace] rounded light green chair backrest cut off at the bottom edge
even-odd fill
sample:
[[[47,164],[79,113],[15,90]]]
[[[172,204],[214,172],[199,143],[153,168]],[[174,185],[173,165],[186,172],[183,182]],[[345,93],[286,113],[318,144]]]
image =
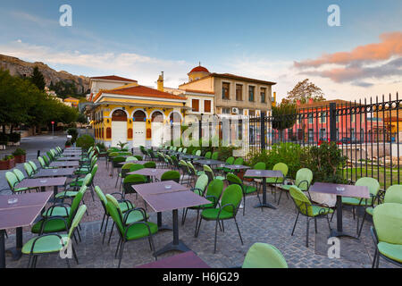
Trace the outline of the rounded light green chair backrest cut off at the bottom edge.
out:
[[[248,249],[242,268],[288,268],[278,248],[256,242]]]

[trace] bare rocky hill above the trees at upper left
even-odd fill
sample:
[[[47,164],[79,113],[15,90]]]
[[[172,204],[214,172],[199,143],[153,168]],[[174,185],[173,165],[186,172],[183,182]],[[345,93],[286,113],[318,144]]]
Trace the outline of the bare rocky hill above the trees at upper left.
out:
[[[9,70],[12,75],[30,77],[35,66],[38,66],[39,71],[43,73],[46,87],[49,87],[51,82],[56,84],[59,81],[63,81],[74,84],[77,88],[77,92],[80,94],[86,93],[89,89],[88,77],[73,75],[67,71],[54,71],[54,69],[50,68],[45,63],[24,62],[19,58],[0,54],[0,69]]]

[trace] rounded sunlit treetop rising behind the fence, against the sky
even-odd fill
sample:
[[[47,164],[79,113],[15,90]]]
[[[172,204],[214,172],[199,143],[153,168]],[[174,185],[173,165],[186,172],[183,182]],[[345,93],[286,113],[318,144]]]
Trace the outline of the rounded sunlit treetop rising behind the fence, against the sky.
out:
[[[314,102],[325,100],[322,89],[314,85],[313,82],[309,82],[308,79],[299,81],[295,88],[288,92],[287,97],[291,103],[296,104],[299,100],[302,105],[308,103],[310,98]]]

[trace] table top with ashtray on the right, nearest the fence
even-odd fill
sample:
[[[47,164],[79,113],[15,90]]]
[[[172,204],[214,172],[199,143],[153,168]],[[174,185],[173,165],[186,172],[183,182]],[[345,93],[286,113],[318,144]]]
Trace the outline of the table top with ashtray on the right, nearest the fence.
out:
[[[344,188],[344,189],[337,189]],[[365,186],[333,184],[328,182],[315,182],[308,191],[332,194],[341,197],[370,198],[369,189]]]

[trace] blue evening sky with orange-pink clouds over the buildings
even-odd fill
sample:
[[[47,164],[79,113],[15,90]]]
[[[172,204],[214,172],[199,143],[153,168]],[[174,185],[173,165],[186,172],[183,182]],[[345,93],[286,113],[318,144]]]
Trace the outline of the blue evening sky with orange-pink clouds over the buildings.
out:
[[[71,26],[59,11],[71,6]],[[339,26],[330,26],[331,4]],[[400,0],[13,0],[0,4],[0,54],[77,75],[120,75],[177,88],[199,62],[277,82],[279,100],[310,79],[327,99],[402,87]]]

